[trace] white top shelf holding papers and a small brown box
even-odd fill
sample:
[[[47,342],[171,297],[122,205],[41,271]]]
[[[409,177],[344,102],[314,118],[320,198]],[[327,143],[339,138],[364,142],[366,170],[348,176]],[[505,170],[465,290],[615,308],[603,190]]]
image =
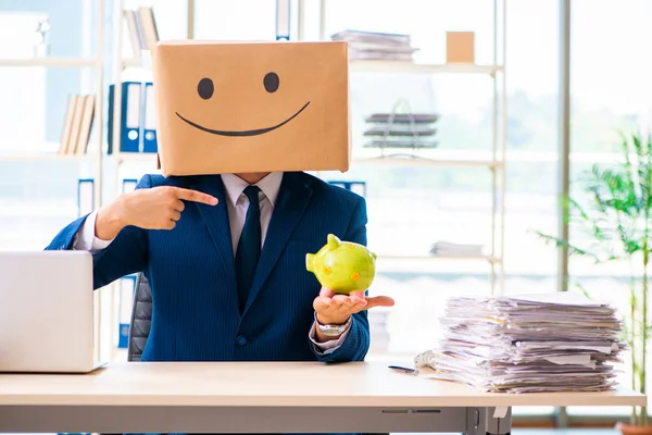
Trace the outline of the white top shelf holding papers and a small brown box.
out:
[[[488,74],[502,71],[500,65],[475,64],[428,64],[404,61],[361,61],[349,62],[351,73],[403,73],[403,74]]]

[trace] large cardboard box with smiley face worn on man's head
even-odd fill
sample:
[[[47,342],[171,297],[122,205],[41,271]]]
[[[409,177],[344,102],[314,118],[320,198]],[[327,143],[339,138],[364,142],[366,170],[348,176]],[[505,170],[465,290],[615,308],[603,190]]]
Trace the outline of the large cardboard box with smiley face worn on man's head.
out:
[[[161,42],[163,175],[349,169],[346,42]]]

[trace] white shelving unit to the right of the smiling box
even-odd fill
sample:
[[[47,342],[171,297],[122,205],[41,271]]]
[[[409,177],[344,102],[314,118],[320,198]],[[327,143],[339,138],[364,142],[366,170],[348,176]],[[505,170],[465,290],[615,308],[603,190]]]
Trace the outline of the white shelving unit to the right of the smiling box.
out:
[[[326,1],[319,0],[319,38],[326,37]],[[352,60],[350,74],[475,74],[487,75],[492,79],[492,138],[491,150],[487,158],[469,159],[464,151],[435,150],[432,157],[353,157],[352,166],[359,164],[390,164],[401,166],[431,167],[478,167],[491,173],[491,241],[488,254],[480,256],[392,256],[379,253],[384,260],[484,260],[489,263],[491,293],[504,289],[504,198],[505,198],[505,156],[506,156],[506,88],[505,88],[505,34],[506,0],[493,0],[493,62],[490,65],[478,64],[424,64],[404,61]],[[304,39],[305,0],[299,0],[299,39]],[[446,29],[443,29],[446,30]],[[355,153],[354,153],[355,154]]]

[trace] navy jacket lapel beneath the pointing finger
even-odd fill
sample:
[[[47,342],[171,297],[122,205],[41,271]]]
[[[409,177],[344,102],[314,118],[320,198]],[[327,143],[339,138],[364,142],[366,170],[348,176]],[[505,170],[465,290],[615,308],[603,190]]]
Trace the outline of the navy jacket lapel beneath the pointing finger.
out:
[[[199,176],[190,184],[189,188],[217,198],[218,202],[216,206],[209,206],[200,202],[193,202],[193,204],[199,209],[199,214],[209,228],[217,254],[227,273],[225,282],[228,288],[234,288],[235,291],[237,291],[235,260],[228,221],[228,206],[226,203],[228,199],[224,191],[222,177],[220,175]],[[237,294],[234,294],[236,301],[237,296]]]

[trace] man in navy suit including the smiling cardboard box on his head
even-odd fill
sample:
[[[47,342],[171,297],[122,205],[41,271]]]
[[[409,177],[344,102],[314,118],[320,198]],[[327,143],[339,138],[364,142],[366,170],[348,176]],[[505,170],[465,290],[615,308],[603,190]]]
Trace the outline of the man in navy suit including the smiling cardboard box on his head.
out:
[[[48,247],[92,251],[96,288],[145,273],[143,361],[365,357],[366,310],[393,301],[334,295],[305,268],[328,234],[366,244],[364,199],[301,172],[348,167],[347,67],[342,42],[156,46],[164,176]]]

